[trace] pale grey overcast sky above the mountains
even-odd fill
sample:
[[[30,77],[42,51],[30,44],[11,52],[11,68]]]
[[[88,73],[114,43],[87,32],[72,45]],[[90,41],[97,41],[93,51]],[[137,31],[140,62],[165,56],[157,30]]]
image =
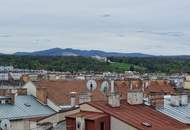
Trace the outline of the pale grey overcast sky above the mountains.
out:
[[[0,52],[190,55],[189,0],[0,0]]]

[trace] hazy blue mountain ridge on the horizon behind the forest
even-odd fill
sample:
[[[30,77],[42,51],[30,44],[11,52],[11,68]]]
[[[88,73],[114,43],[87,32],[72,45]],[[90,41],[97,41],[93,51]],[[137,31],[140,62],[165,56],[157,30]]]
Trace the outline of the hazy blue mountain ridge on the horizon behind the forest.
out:
[[[151,57],[153,55],[143,53],[119,53],[119,52],[105,52],[100,50],[80,50],[72,48],[51,48],[47,50],[34,52],[16,52],[13,55],[19,56],[83,56],[83,57]]]

